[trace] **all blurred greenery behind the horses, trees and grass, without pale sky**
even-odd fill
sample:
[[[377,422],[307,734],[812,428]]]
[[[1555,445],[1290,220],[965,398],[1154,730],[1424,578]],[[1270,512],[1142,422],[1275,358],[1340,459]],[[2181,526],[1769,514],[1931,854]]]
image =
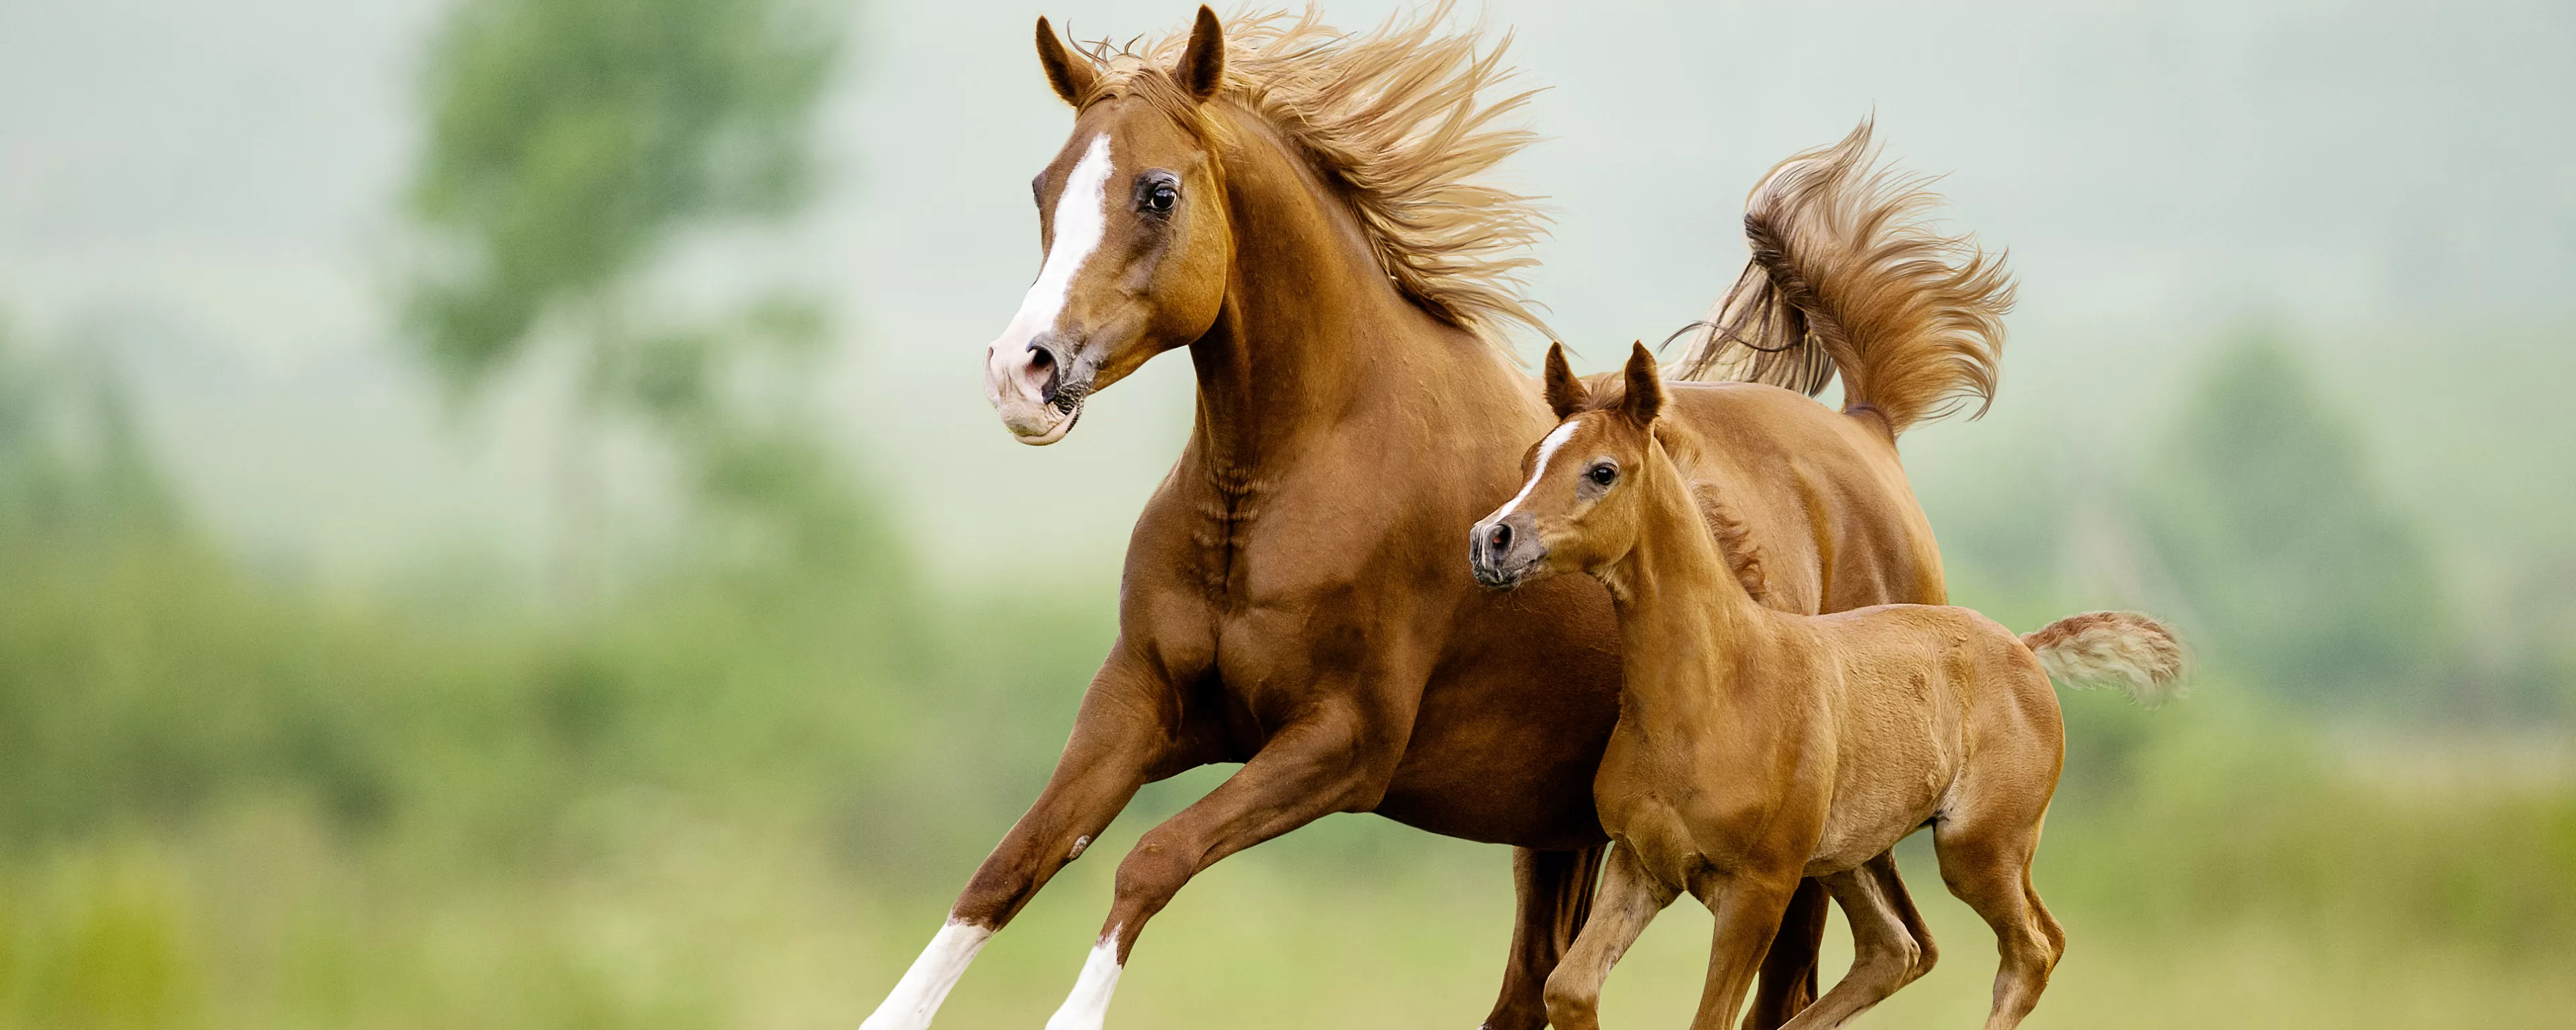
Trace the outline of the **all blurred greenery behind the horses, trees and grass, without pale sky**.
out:
[[[989,541],[1023,574],[984,579],[925,559],[922,492],[997,464],[853,440],[822,391],[853,314],[693,250],[757,252],[814,216],[814,124],[855,75],[837,10],[464,0],[428,21],[384,348],[446,433],[554,443],[531,561],[554,572],[420,548],[425,574],[350,587],[265,561],[206,515],[185,433],[149,430],[155,368],[100,342],[113,324],[0,324],[0,1030],[855,1025],[1043,783],[1113,633],[1097,556]],[[868,188],[907,188],[886,173]],[[2409,342],[2566,371],[2571,322],[2535,324],[2522,350]],[[1960,603],[2025,628],[2143,605],[2200,649],[2182,706],[2063,698],[2038,881],[2074,953],[2030,1025],[2563,1025],[2576,577],[2550,569],[2576,551],[2527,530],[2506,574],[2463,572],[2445,518],[2494,520],[2406,500],[2370,433],[2393,409],[2334,384],[2316,330],[2200,332],[2125,435],[2074,433],[2007,379],[2002,417],[1909,438]],[[551,430],[469,402],[520,381],[559,397]],[[2532,482],[2571,430],[2468,471]],[[1157,448],[1128,458],[1139,482]],[[1133,510],[1118,489],[1054,505]],[[1224,772],[1149,788],[943,1025],[1041,1022],[1115,855]],[[1919,839],[1904,868],[1945,963],[1862,1025],[1968,1025],[1986,930]],[[1502,850],[1334,816],[1193,883],[1113,1020],[1463,1025],[1507,917]],[[1685,1017],[1695,919],[1638,945],[1613,1022]]]

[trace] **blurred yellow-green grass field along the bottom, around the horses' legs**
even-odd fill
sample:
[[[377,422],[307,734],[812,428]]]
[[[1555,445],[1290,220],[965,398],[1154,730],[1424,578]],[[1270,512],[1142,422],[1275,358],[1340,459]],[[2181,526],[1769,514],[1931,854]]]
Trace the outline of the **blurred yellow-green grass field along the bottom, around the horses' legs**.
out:
[[[2112,700],[2071,698],[2089,703]],[[2566,780],[2401,796],[2285,757],[2244,706],[2197,706],[2156,716],[2117,798],[2061,801],[2038,883],[2071,950],[2032,1027],[2563,1025]],[[997,937],[943,1025],[1043,1025],[1113,857],[1216,775],[1141,798]],[[848,1027],[974,863],[948,847],[881,868],[871,852],[914,852],[925,827],[641,783],[585,791],[538,834],[510,847],[394,816],[353,837],[309,796],[252,791],[21,850],[0,873],[0,1025]],[[1991,935],[1922,845],[1904,868],[1942,963],[1862,1025],[1984,1015]],[[1507,917],[1499,847],[1334,816],[1195,881],[1136,945],[1113,1017],[1473,1025]],[[1695,904],[1669,909],[1613,976],[1605,1020],[1685,1022],[1705,935]],[[1847,953],[1837,922],[1829,968]]]

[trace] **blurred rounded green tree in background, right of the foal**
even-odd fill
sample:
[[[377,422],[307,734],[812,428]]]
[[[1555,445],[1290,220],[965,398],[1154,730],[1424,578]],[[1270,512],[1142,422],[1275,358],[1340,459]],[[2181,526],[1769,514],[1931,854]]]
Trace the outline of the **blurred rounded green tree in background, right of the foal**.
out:
[[[2427,543],[2277,337],[2200,376],[2148,458],[2141,523],[2221,662],[2313,703],[2458,700],[2458,626]]]

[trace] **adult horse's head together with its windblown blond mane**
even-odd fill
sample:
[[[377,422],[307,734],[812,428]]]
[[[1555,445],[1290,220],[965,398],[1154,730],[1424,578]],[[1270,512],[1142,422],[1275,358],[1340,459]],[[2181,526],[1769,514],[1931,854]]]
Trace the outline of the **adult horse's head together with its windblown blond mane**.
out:
[[[1224,23],[1198,8],[1188,36],[1118,52],[1066,49],[1038,18],[1038,67],[1074,106],[1074,134],[1033,183],[1038,281],[984,353],[1002,425],[1061,440],[1090,394],[1206,337],[1244,283],[1273,286],[1273,304],[1311,283],[1386,283],[1381,299],[1486,340],[1546,332],[1517,288],[1543,216],[1481,183],[1530,142],[1507,118],[1530,93],[1497,95],[1504,46],[1445,31],[1448,15],[1440,0],[1340,31],[1314,8]],[[1273,221],[1239,247],[1255,214]],[[1239,268],[1249,247],[1260,263]]]

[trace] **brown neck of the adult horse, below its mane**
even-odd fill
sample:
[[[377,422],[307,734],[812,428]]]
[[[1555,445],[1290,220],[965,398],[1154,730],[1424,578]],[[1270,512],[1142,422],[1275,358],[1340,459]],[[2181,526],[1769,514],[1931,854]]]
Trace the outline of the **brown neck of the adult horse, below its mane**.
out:
[[[1218,484],[1249,489],[1365,397],[1430,384],[1425,363],[1492,355],[1443,340],[1455,330],[1396,291],[1358,216],[1275,129],[1218,116],[1234,121],[1224,154],[1234,260],[1216,324],[1190,345],[1193,435]]]

